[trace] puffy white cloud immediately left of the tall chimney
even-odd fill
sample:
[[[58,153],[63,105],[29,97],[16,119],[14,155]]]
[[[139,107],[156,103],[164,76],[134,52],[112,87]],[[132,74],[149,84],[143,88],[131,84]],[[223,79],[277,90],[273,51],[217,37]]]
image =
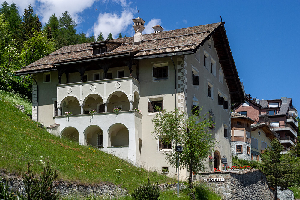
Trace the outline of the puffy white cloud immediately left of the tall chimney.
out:
[[[123,10],[121,15],[116,13],[99,14],[97,22],[94,24],[94,34],[97,37],[103,32],[104,39],[111,32],[116,38],[121,32],[124,32],[132,22],[134,12],[132,10]]]

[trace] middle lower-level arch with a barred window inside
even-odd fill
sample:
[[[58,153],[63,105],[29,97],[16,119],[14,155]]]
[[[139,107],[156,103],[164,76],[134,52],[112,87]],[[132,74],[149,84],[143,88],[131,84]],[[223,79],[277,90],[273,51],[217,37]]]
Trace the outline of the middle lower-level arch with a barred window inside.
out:
[[[85,128],[84,145],[103,147],[103,130],[98,125],[91,125]]]

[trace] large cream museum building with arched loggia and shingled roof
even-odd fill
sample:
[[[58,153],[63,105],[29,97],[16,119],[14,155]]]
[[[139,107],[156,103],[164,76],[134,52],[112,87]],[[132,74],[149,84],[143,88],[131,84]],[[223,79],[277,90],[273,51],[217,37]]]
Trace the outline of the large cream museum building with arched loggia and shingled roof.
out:
[[[155,26],[143,35],[143,19],[133,21],[134,37],[64,46],[17,71],[33,75],[33,120],[56,136],[175,175],[162,154],[174,144],[151,134],[155,106],[187,113],[199,106],[215,122],[216,161],[207,169],[221,169],[223,157],[231,163],[230,105],[244,94],[224,23]],[[115,108],[122,111],[115,115]]]

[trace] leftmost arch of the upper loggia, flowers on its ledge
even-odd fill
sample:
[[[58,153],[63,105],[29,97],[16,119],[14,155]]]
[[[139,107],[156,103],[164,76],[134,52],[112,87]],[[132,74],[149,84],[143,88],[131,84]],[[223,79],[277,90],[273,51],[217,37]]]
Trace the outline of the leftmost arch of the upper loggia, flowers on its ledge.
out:
[[[74,95],[68,95],[60,102],[61,115],[65,115],[65,112],[72,112],[73,115],[80,114],[80,100]]]

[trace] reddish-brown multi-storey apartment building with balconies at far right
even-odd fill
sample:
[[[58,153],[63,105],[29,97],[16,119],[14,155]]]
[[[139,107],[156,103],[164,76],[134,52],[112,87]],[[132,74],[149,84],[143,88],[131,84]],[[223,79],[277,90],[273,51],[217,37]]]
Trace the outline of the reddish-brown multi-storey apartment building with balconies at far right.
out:
[[[295,145],[298,134],[297,109],[292,104],[292,99],[281,97],[281,99],[259,100],[245,96],[244,103],[232,106],[235,112],[250,117],[254,124],[266,123],[276,134],[280,143],[287,151],[291,145]],[[262,148],[263,149],[263,148]]]

